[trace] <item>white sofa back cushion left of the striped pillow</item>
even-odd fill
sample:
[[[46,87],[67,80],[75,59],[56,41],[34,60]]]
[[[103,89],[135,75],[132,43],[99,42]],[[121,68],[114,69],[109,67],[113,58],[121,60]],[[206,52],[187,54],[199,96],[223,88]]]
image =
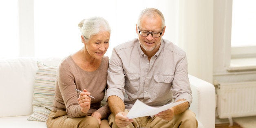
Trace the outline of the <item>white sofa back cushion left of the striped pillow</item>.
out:
[[[32,113],[35,58],[0,59],[0,117]]]

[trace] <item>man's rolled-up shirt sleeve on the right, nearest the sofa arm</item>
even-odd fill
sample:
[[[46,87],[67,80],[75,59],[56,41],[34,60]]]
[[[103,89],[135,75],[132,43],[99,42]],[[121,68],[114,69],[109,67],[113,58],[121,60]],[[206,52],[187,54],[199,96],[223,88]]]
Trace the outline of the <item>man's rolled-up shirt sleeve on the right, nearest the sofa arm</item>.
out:
[[[172,93],[175,101],[186,99],[189,104],[191,104],[192,95],[188,79],[188,62],[185,54],[183,54],[181,59],[177,62],[174,79],[172,81]]]

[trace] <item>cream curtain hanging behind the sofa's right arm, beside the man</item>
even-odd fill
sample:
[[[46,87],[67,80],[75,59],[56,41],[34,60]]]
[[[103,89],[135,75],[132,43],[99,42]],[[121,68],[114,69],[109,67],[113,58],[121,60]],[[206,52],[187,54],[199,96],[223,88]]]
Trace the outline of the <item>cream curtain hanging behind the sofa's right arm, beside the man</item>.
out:
[[[178,37],[189,74],[212,83],[213,0],[179,0]]]

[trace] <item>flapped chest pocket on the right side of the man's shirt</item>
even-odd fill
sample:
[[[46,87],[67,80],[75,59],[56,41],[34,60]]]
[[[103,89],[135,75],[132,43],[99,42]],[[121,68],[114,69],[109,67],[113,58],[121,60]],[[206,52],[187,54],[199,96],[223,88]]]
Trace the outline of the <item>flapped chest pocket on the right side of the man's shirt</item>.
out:
[[[172,80],[172,75],[154,74],[155,84],[153,85],[152,96],[164,99],[172,98]]]

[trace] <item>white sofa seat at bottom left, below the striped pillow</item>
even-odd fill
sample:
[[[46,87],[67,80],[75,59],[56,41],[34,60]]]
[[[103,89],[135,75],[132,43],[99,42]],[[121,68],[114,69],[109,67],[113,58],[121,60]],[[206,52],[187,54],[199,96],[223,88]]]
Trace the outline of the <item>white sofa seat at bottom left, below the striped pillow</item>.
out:
[[[47,128],[46,122],[29,121],[29,115],[17,117],[0,117],[1,128]]]

